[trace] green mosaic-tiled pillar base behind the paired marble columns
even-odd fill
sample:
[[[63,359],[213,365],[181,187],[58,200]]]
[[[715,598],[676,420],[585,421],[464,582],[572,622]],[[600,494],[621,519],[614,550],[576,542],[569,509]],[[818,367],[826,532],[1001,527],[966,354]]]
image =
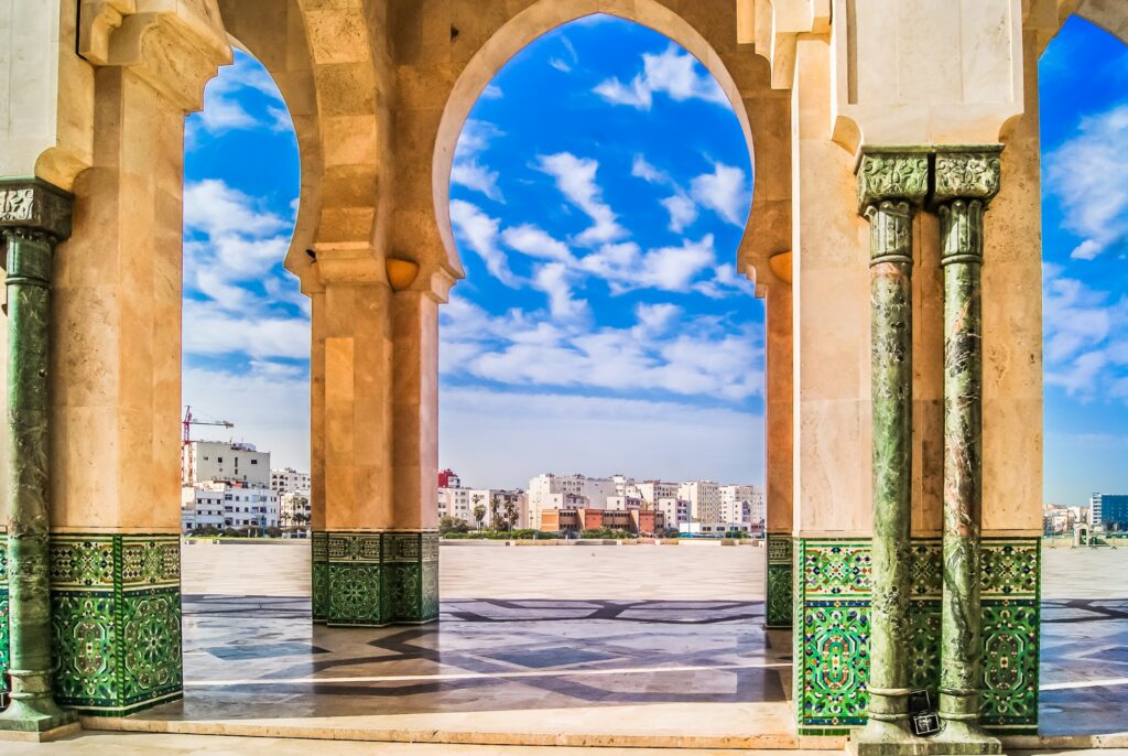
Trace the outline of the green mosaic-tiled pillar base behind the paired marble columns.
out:
[[[1040,539],[985,538],[982,717],[995,731],[1038,728]],[[938,540],[914,542],[911,684],[940,682]],[[795,696],[801,735],[845,735],[865,723],[870,651],[870,543],[795,539]]]

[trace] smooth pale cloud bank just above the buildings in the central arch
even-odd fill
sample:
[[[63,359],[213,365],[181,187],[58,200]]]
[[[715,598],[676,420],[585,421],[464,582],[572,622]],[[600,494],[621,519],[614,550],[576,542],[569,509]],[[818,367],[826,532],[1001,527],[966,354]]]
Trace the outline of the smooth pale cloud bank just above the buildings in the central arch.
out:
[[[540,473],[575,471],[675,481],[764,481],[764,419],[754,413],[481,388],[444,388],[439,405],[440,464],[473,471],[475,485],[526,487]]]

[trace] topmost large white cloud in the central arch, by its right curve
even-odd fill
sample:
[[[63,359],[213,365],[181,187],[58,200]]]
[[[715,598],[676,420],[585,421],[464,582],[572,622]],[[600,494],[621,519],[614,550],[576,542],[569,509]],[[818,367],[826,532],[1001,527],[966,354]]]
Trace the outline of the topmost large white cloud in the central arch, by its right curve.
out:
[[[731,107],[716,79],[693,55],[676,45],[671,44],[658,55],[644,53],[642,61],[642,73],[635,76],[629,85],[616,78],[606,79],[594,88],[594,93],[615,105],[628,105],[641,111],[651,108],[656,93],[679,103],[703,99]]]

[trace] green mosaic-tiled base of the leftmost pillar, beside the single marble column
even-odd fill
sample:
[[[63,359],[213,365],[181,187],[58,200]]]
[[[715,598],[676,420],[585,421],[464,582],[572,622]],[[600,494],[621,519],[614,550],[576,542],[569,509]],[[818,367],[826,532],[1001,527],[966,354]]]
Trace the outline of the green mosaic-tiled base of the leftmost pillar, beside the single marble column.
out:
[[[124,717],[182,697],[180,538],[51,538],[55,701]]]

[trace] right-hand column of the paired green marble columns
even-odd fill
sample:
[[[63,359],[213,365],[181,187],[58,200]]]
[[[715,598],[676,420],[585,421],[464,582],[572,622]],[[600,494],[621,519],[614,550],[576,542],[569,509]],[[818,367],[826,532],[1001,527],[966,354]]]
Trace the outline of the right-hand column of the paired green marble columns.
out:
[[[999,148],[940,152],[934,201],[944,269],[944,590],[940,739],[998,753],[980,727],[984,210],[998,192]],[[961,753],[968,753],[962,750]]]

